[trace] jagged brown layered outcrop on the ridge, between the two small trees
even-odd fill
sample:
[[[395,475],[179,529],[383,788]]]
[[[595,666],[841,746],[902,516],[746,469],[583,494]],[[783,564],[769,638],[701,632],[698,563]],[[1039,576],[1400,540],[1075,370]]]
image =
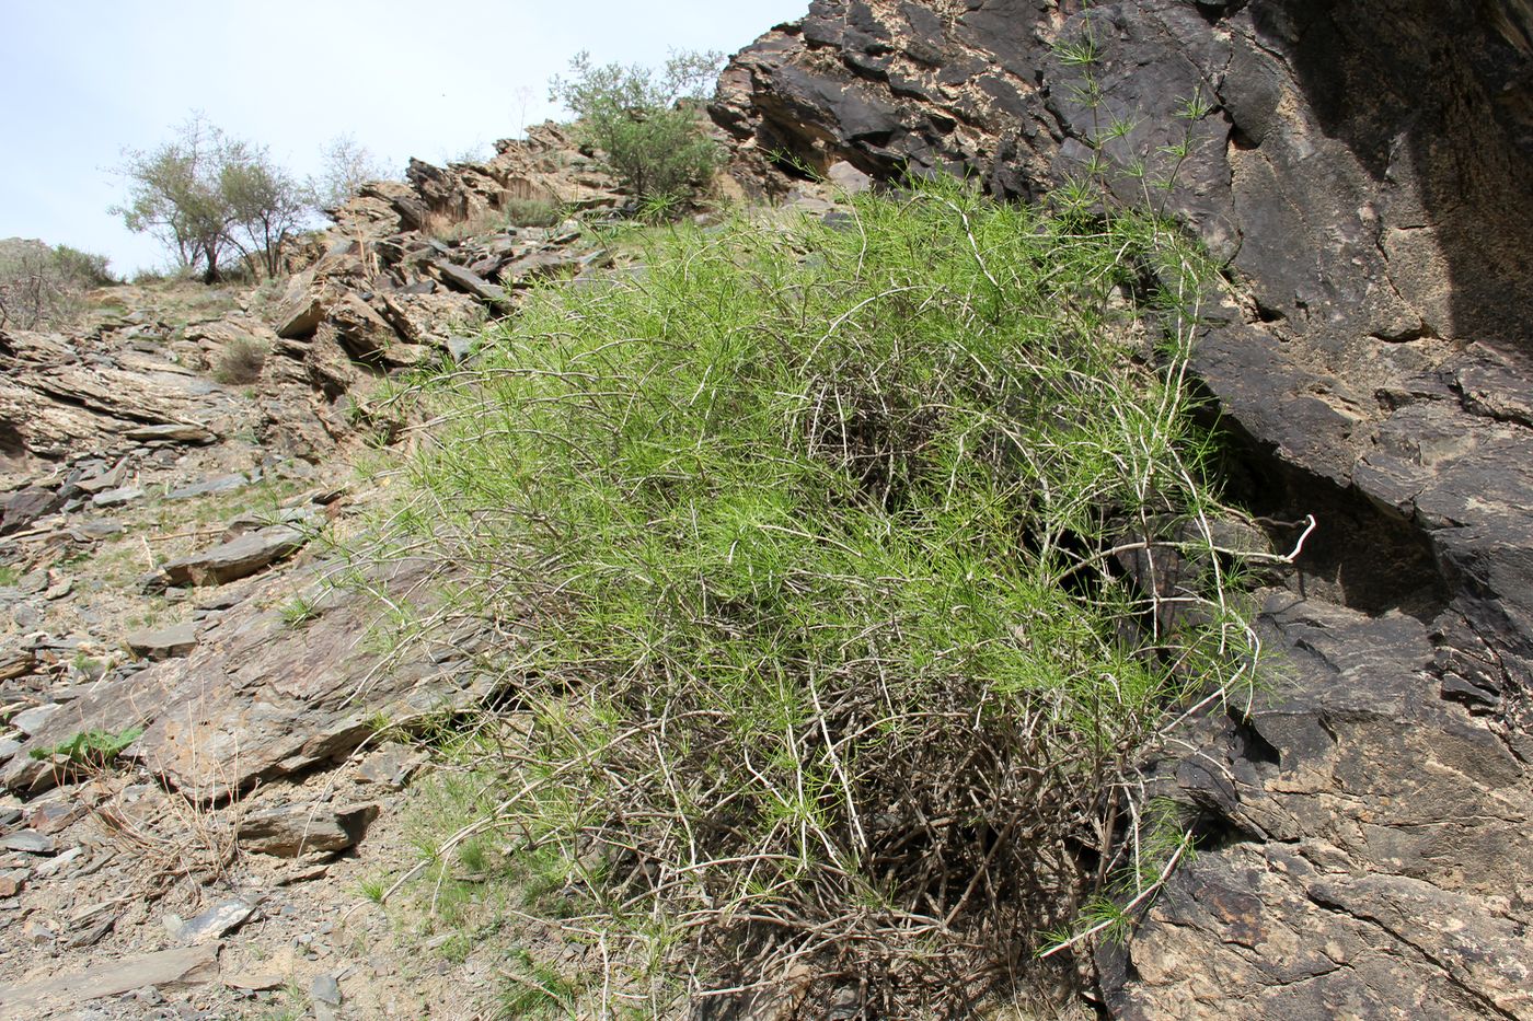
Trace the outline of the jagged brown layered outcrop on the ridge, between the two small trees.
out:
[[[334,225],[293,261],[273,311],[277,356],[262,391],[267,446],[317,460],[356,425],[353,391],[373,376],[452,357],[452,339],[509,311],[532,267],[567,253],[576,221],[521,227],[517,208],[567,215],[613,207],[613,181],[553,124],[497,143],[481,164],[411,161],[406,181],[377,181],[331,210]]]

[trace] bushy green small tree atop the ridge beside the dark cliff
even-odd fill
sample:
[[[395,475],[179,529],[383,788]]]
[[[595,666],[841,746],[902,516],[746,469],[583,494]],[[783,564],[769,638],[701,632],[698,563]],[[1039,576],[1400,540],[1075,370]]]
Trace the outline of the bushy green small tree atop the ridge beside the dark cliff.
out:
[[[578,136],[599,149],[639,199],[676,199],[719,166],[698,104],[717,75],[716,52],[679,52],[656,72],[632,64],[592,66],[590,54],[570,60],[570,78],[549,83],[549,100],[578,118]]]

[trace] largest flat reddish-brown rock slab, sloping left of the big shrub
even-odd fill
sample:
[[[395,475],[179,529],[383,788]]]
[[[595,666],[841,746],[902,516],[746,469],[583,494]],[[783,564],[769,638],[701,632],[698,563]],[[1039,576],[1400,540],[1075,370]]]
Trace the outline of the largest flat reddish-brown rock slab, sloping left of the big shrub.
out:
[[[394,598],[429,602],[425,561],[388,575]],[[483,638],[445,636],[382,670],[366,647],[380,610],[357,590],[320,598],[300,629],[277,609],[294,578],[274,578],[207,627],[196,648],[126,678],[86,688],[67,713],[48,719],[0,768],[0,786],[40,793],[58,783],[49,759],[34,759],[81,731],[121,734],[143,727],[133,754],[189,797],[210,800],[343,756],[399,717],[478,702],[492,681],[464,664]],[[67,771],[64,771],[67,773]]]

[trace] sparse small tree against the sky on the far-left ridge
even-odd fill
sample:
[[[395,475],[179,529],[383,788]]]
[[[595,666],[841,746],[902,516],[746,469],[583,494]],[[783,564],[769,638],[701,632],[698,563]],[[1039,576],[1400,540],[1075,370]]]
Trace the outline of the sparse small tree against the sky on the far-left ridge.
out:
[[[158,238],[178,265],[201,267],[208,284],[233,254],[259,256],[274,271],[282,241],[310,205],[264,146],[230,138],[201,113],[158,149],[130,150],[121,172],[129,199],[112,212],[129,230]]]

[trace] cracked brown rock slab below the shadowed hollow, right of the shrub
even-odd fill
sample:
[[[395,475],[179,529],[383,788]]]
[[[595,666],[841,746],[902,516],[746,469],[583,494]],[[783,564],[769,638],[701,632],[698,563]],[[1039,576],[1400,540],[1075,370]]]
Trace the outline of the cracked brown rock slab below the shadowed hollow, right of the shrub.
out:
[[[1525,762],[1438,698],[1421,621],[1282,593],[1260,627],[1283,664],[1248,724],[1268,754],[1180,765],[1231,829],[1101,952],[1113,1016],[1533,1018],[1507,895],[1533,883]]]

